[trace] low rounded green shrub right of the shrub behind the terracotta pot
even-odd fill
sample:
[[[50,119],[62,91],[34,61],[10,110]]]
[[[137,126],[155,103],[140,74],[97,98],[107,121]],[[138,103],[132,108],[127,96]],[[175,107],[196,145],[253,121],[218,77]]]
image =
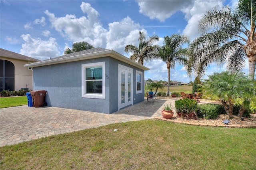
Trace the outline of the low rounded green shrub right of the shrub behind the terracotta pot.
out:
[[[196,111],[196,115],[204,119],[216,119],[220,114],[226,114],[223,105],[210,103],[198,105],[198,109]]]

